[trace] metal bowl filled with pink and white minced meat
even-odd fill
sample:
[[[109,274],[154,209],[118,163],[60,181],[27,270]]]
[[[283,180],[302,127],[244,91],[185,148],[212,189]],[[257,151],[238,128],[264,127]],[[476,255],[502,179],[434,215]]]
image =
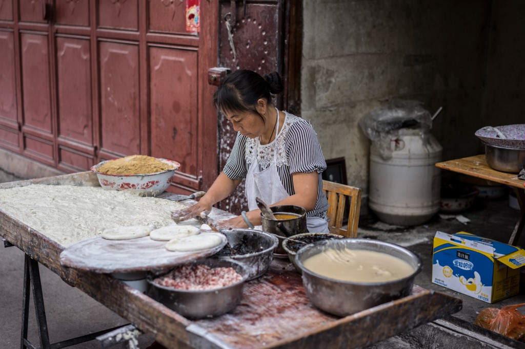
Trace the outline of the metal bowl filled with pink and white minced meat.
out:
[[[188,319],[213,318],[233,310],[243,297],[248,268],[234,260],[206,258],[148,277],[153,297]]]

